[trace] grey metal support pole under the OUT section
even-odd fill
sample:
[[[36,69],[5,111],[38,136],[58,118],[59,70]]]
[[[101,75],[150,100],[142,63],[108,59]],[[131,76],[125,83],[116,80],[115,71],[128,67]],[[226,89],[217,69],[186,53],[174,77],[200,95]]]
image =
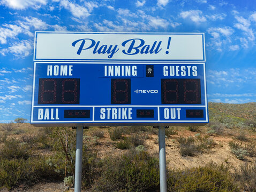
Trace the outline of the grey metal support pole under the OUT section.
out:
[[[165,161],[165,130],[159,126],[159,168],[160,168],[160,192],[167,192],[166,161]]]

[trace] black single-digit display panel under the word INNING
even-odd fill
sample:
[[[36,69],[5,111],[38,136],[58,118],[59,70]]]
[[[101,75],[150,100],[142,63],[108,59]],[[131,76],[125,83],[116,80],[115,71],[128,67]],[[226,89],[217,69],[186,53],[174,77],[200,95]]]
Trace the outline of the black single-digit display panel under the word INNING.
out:
[[[111,79],[111,104],[131,104],[131,79]]]

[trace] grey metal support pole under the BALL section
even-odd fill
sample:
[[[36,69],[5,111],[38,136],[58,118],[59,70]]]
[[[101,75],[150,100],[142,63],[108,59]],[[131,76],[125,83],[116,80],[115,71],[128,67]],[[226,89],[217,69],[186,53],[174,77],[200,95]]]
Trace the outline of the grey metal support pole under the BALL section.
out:
[[[76,170],[74,174],[74,192],[81,192],[82,181],[82,126],[77,127]]]

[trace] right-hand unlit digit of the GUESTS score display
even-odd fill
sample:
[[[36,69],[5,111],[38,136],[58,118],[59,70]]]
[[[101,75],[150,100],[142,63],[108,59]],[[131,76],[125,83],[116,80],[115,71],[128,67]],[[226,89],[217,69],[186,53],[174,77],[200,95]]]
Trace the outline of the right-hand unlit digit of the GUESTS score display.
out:
[[[197,79],[185,79],[184,86],[184,101],[185,103],[198,103],[199,101],[199,83]]]

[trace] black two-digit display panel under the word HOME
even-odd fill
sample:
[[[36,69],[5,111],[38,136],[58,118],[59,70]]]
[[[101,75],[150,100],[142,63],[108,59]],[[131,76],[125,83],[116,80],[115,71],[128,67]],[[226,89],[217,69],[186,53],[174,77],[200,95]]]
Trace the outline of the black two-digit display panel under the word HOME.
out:
[[[79,104],[79,78],[40,78],[38,104]]]

